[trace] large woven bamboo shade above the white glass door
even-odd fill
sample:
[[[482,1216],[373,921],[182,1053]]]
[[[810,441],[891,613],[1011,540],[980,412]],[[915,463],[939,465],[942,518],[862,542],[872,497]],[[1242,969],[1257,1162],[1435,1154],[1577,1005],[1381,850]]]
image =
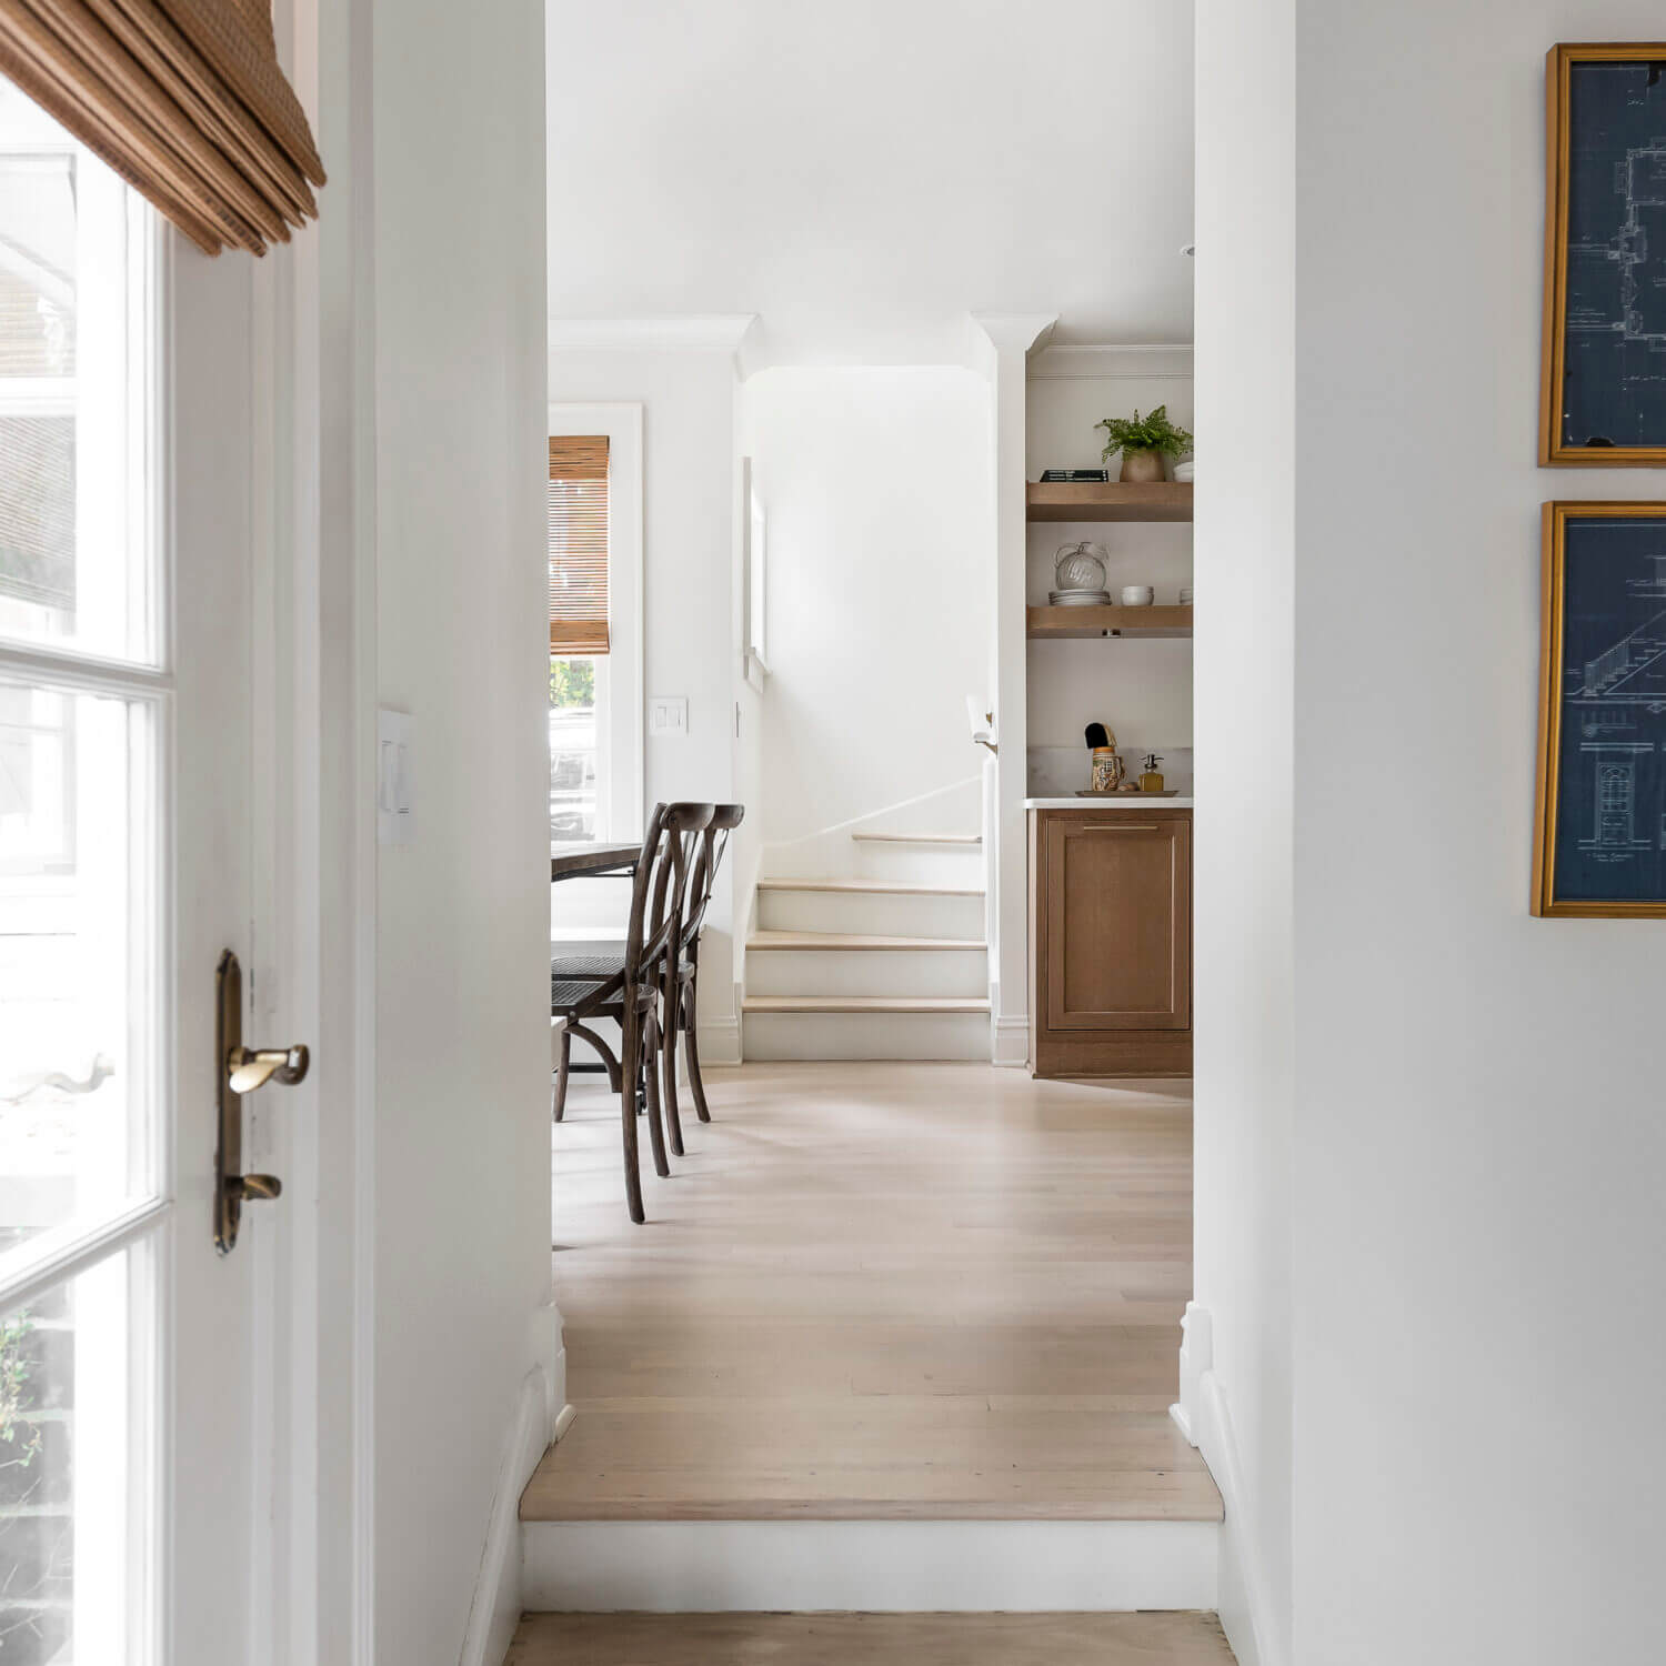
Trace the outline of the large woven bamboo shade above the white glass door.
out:
[[[210,255],[318,213],[270,0],[0,0],[0,72]]]

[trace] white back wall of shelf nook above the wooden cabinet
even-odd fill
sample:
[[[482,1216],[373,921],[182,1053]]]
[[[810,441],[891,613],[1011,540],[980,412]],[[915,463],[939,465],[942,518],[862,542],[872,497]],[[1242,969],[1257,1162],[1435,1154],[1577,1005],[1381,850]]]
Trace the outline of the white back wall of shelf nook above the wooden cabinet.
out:
[[[1101,416],[1168,407],[1183,428],[1191,426],[1190,347],[1048,347],[1030,362],[1026,475],[1046,468],[1105,465]],[[1110,551],[1106,583],[1111,600],[1123,585],[1151,585],[1160,603],[1180,600],[1191,583],[1191,528],[1038,521],[1028,530],[1028,598],[1043,606],[1055,585],[1060,545],[1090,538]],[[1030,661],[1030,786],[1036,793],[1075,791],[1088,785],[1083,730],[1103,721],[1115,731],[1131,771],[1140,755],[1163,755],[1170,786],[1191,785],[1191,643],[1165,638],[1120,641],[1033,641]]]

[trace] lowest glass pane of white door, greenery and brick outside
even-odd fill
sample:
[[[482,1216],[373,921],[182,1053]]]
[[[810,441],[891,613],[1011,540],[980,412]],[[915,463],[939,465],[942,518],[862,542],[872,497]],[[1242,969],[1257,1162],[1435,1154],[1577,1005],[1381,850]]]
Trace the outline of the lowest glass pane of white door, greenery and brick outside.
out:
[[[128,1659],[138,1546],[133,1431],[145,1381],[115,1254],[0,1316],[0,1659]]]

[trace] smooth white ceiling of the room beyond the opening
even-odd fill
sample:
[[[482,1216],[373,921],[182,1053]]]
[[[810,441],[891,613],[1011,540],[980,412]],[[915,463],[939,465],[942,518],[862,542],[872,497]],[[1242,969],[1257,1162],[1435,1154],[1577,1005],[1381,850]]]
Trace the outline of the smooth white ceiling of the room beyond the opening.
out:
[[[548,0],[550,315],[758,313],[775,363],[968,312],[1190,342],[1191,7]]]

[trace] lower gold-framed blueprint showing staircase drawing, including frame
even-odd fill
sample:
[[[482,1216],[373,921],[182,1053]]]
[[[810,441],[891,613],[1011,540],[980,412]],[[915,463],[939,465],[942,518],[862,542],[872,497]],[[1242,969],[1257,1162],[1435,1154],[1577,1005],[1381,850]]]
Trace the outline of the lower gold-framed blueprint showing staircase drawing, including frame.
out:
[[[1666,918],[1666,503],[1546,503],[1533,913]]]

